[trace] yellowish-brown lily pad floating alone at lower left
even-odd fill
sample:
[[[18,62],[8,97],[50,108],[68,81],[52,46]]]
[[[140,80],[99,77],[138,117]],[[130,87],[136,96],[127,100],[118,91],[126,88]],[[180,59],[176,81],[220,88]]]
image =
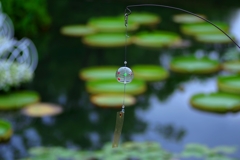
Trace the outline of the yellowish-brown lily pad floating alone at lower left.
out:
[[[23,114],[31,117],[54,116],[62,112],[62,108],[51,103],[34,103],[23,109]]]

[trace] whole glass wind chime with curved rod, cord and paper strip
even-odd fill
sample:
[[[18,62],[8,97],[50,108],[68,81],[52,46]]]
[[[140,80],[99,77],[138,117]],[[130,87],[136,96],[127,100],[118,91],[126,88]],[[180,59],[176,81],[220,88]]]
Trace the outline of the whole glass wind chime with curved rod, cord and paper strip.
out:
[[[162,7],[162,8],[168,8],[168,9],[174,9],[174,10],[179,10],[185,13],[188,13],[190,15],[193,15],[195,17],[198,17],[209,24],[213,25],[216,27],[218,30],[220,30],[223,34],[225,34],[239,49],[240,46],[226,33],[224,32],[221,28],[219,28],[217,25],[214,23],[210,22],[209,20],[195,14],[192,12],[189,12],[187,10],[181,9],[181,8],[176,8],[172,6],[165,6],[165,5],[158,5],[158,4],[139,4],[139,5],[129,5],[125,9],[125,27],[126,27],[126,37],[125,37],[125,61],[124,61],[124,66],[120,67],[116,71],[116,79],[118,82],[124,84],[124,97],[123,97],[123,104],[122,104],[122,110],[120,112],[117,112],[117,117],[116,117],[116,126],[115,126],[115,131],[114,131],[114,137],[113,137],[113,142],[112,142],[112,147],[118,147],[118,143],[120,140],[121,132],[122,132],[122,127],[123,127],[123,122],[124,122],[124,114],[125,114],[125,94],[126,94],[126,84],[130,83],[133,79],[133,72],[130,68],[127,67],[127,60],[126,60],[126,54],[127,54],[127,26],[128,26],[128,16],[131,14],[131,10],[129,9],[130,7],[141,7],[141,6],[155,6],[155,7]],[[128,13],[127,13],[128,11]]]

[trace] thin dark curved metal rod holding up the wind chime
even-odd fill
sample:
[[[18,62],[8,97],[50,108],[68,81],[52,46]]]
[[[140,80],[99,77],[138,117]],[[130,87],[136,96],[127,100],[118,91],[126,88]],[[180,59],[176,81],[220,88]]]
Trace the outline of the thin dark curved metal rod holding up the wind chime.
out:
[[[212,23],[211,21],[195,14],[195,13],[192,13],[192,12],[189,12],[187,10],[184,10],[184,9],[181,9],[181,8],[176,8],[176,7],[172,7],[172,6],[165,6],[165,5],[159,5],[159,4],[138,4],[138,5],[129,5],[126,7],[125,9],[125,16],[128,16],[132,13],[132,11],[129,9],[129,8],[132,8],[132,7],[142,7],[142,6],[155,6],[155,7],[163,7],[163,8],[169,8],[169,9],[174,9],[174,10],[179,10],[179,11],[182,11],[182,12],[186,12],[188,14],[191,14],[193,16],[196,16],[208,23],[210,23],[211,25],[213,25],[214,27],[216,27],[218,30],[220,30],[223,34],[225,34],[239,49],[240,49],[240,46],[237,44],[237,42],[235,42],[226,32],[224,32],[221,28],[219,28],[217,25],[215,25],[214,23]]]

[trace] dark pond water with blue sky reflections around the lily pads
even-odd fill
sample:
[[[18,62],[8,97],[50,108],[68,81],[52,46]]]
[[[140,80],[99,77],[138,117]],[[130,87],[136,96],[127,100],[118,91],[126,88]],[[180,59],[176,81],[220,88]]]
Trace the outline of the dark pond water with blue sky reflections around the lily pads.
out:
[[[33,82],[26,86],[38,91],[42,102],[60,104],[64,112],[55,117],[43,118],[26,117],[21,111],[0,113],[1,118],[9,120],[14,128],[10,142],[0,144],[0,159],[25,157],[28,155],[27,150],[34,146],[95,150],[112,140],[115,116],[119,110],[94,106],[78,72],[88,66],[122,66],[124,48],[90,48],[83,45],[80,38],[62,36],[59,29],[66,24],[86,23],[87,19],[94,16],[122,14],[126,4],[113,5],[107,11],[99,5],[94,8],[93,4],[89,4],[89,10],[78,5],[59,2],[56,4],[58,9],[51,9],[54,23],[52,28],[33,39],[40,59]],[[109,7],[111,4],[105,5]],[[179,25],[170,18],[179,12],[159,8],[136,10],[158,13],[162,17],[159,29],[179,31]],[[211,20],[227,21],[232,32],[238,36],[240,32],[235,30],[240,28],[236,23],[240,17],[237,16],[237,9],[225,8],[224,13],[222,10],[223,8],[205,8],[191,11],[202,12]],[[192,41],[189,48],[158,50],[131,45],[128,47],[128,63],[130,66],[158,64],[168,68],[172,57],[200,54],[221,59],[229,47],[234,45],[205,45]],[[224,73],[207,76],[171,73],[166,81],[148,83],[146,93],[137,96],[137,104],[126,108],[121,140],[155,141],[172,152],[180,152],[187,143],[206,144],[209,147],[237,146],[239,149],[235,156],[240,159],[240,114],[208,113],[193,109],[189,104],[189,98],[195,93],[217,91],[216,76],[220,74]]]

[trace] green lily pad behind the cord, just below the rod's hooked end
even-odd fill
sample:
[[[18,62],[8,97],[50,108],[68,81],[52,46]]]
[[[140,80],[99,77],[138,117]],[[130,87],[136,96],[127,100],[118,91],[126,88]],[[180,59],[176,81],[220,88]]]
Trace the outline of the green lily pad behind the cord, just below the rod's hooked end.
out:
[[[99,32],[125,32],[124,17],[99,17],[92,18],[88,25]],[[139,25],[132,21],[128,22],[128,31],[137,30]]]

